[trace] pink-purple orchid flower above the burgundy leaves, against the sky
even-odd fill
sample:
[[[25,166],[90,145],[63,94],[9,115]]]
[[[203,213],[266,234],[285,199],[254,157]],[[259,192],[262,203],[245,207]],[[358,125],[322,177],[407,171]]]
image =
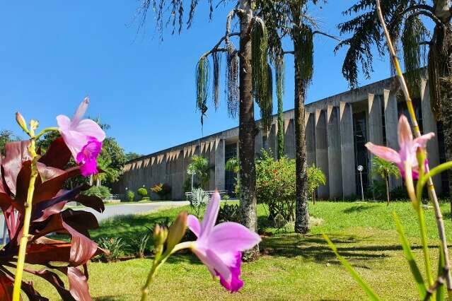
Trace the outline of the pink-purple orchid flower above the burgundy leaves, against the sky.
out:
[[[105,132],[91,119],[82,119],[88,108],[89,99],[85,98],[79,105],[74,117],[57,116],[58,130],[66,146],[71,151],[74,160],[80,165],[83,177],[98,172],[97,161]]]

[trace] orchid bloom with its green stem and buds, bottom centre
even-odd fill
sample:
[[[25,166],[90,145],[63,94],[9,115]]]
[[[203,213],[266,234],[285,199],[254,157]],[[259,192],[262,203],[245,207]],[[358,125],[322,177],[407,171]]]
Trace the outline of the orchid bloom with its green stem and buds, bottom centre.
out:
[[[190,249],[207,267],[211,275],[219,278],[226,290],[234,293],[243,287],[243,281],[240,278],[242,252],[252,249],[260,242],[260,237],[238,223],[215,225],[219,209],[220,194],[215,192],[211,196],[201,223],[196,216],[182,212],[169,229],[156,225],[153,231],[156,255],[143,287],[142,301],[147,300],[149,285],[158,268],[171,254],[181,249]],[[197,240],[180,242],[187,227],[196,235]]]

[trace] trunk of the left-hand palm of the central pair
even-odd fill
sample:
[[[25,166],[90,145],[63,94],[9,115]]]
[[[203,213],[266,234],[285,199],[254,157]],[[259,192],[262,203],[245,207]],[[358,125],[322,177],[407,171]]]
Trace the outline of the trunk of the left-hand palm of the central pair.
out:
[[[257,201],[255,195],[255,153],[254,138],[256,134],[254,119],[254,100],[252,95],[251,40],[248,36],[248,26],[253,11],[250,0],[240,0],[240,105],[238,122],[238,153],[241,164],[241,218],[242,223],[251,231],[257,230]],[[248,255],[257,256],[259,247]]]

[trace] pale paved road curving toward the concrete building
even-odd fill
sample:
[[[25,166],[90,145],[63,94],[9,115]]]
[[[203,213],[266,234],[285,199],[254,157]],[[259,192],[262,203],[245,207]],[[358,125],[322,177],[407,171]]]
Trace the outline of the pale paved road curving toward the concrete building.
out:
[[[98,221],[111,218],[113,216],[127,216],[129,214],[155,212],[166,208],[177,208],[188,205],[188,201],[157,201],[155,203],[124,203],[120,205],[105,206],[103,213],[98,213],[92,208],[74,207],[74,210],[89,211],[94,214]],[[0,241],[3,243],[4,216],[0,215]]]

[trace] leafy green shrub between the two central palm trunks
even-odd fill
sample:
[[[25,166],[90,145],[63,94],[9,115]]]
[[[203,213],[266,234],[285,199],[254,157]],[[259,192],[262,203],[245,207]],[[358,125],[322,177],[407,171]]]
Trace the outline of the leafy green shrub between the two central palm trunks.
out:
[[[271,217],[280,215],[286,221],[294,220],[295,160],[274,160],[271,153],[262,151],[256,160],[256,196],[273,212]]]

